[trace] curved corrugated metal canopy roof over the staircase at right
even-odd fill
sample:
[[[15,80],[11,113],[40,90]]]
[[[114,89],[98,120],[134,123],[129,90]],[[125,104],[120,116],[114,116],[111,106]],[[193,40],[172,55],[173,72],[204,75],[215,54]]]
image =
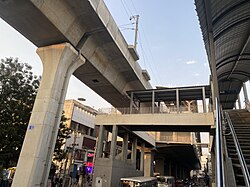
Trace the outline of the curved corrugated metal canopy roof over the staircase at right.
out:
[[[250,77],[250,0],[195,0],[195,5],[209,63],[214,47],[221,104],[232,109]]]

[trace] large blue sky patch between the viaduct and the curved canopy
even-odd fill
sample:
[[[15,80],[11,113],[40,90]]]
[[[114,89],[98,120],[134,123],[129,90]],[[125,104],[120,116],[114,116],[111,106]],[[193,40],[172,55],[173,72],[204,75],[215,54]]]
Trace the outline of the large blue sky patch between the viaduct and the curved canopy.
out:
[[[207,56],[192,0],[105,2],[118,26],[131,23],[129,16],[140,16],[139,62],[149,71],[154,86],[208,84]],[[133,44],[134,31],[122,33]]]

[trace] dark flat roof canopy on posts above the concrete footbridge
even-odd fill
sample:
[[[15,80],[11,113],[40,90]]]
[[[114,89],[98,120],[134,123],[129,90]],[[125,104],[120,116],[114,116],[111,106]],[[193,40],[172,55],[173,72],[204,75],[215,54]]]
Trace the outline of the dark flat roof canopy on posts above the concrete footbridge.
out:
[[[150,90],[135,90],[128,91],[127,94],[131,98],[133,95],[133,100],[138,100],[140,102],[152,102],[152,98],[154,95],[155,102],[168,102],[168,101],[176,101],[176,93],[178,90],[179,100],[202,100],[203,93],[202,89],[204,88],[205,98],[209,98],[211,96],[210,85],[201,85],[201,86],[190,86],[190,87],[158,87],[157,89]]]

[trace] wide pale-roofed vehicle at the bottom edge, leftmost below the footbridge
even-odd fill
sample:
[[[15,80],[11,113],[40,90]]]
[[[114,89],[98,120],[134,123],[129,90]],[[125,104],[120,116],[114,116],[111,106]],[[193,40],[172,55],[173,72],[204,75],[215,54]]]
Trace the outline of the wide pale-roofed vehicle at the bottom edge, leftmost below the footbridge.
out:
[[[157,178],[155,177],[121,178],[121,187],[157,187]]]

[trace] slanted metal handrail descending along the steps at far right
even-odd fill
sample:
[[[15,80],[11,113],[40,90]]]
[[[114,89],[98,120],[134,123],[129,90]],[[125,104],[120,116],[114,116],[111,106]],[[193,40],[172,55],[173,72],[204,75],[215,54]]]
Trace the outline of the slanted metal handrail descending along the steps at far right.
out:
[[[247,168],[247,164],[245,162],[245,158],[244,158],[242,150],[240,148],[240,143],[239,143],[237,135],[235,133],[235,130],[234,130],[232,121],[230,119],[230,116],[229,116],[228,112],[225,112],[225,114],[226,114],[226,119],[227,119],[227,122],[228,122],[228,126],[230,128],[231,133],[232,133],[232,137],[233,137],[235,148],[236,148],[237,155],[238,155],[238,158],[239,158],[239,162],[240,162],[242,174],[243,174],[243,177],[244,177],[244,180],[245,180],[245,184],[246,184],[246,186],[249,187],[250,186],[250,175],[249,175],[249,171],[248,171],[248,168]]]

